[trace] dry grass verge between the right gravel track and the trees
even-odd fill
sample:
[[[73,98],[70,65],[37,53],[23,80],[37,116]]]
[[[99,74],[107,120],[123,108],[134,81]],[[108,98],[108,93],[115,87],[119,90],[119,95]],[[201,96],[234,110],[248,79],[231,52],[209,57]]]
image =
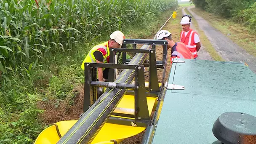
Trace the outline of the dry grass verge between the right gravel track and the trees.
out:
[[[252,32],[248,27],[245,27],[242,24],[237,24],[232,20],[208,13],[199,8],[191,8],[190,10],[207,20],[212,27],[215,27],[224,35],[227,35],[227,37],[245,49],[249,54],[256,56],[256,33]]]

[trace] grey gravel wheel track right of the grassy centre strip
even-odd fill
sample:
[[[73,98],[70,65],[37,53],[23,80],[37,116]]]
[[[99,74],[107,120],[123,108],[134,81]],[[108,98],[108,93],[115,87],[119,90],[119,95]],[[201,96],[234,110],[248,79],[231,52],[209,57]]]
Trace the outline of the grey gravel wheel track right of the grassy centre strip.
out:
[[[190,10],[194,8],[190,6],[187,10],[193,15],[193,19],[197,21],[198,26],[205,32],[205,35],[210,40],[213,48],[221,55],[226,61],[235,61],[243,63],[246,62],[249,68],[256,73],[256,57],[248,54],[243,48],[235,44],[227,36],[219,32],[216,28],[212,27],[206,20],[202,17],[197,16],[196,13]]]

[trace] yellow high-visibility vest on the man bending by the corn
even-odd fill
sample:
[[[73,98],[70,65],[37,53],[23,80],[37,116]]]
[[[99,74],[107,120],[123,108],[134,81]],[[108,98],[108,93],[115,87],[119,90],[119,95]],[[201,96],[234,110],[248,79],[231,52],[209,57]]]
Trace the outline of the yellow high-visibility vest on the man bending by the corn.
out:
[[[95,45],[87,54],[87,56],[85,57],[85,59],[83,60],[83,63],[81,65],[81,68],[83,70],[85,70],[85,62],[92,62],[92,63],[96,63],[96,59],[95,56],[93,55],[93,53],[95,51],[99,51],[102,53],[103,55],[103,59],[104,59],[104,63],[108,63],[109,62],[109,45],[108,45],[109,41],[101,43],[99,45]],[[105,68],[102,68],[102,70],[104,70]]]

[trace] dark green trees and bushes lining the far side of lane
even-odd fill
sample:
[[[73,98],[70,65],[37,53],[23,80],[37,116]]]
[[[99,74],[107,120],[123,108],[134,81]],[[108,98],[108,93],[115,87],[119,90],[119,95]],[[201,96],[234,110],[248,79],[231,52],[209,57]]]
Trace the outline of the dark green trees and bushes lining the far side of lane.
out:
[[[256,0],[190,0],[196,8],[250,27],[256,32]]]

